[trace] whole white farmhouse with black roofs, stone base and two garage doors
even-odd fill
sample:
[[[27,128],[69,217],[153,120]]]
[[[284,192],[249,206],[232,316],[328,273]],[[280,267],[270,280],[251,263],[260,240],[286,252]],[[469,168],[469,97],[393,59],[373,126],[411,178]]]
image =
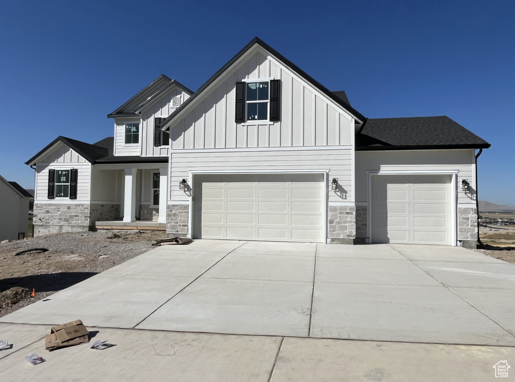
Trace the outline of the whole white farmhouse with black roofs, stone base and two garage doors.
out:
[[[27,162],[35,234],[475,246],[487,142],[445,116],[368,119],[258,38],[196,92],[161,76],[108,117],[114,138]]]

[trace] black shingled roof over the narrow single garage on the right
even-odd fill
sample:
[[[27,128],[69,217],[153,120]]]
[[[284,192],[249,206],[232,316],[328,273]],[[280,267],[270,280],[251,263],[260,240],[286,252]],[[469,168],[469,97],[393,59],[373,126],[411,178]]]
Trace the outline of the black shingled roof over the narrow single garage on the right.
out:
[[[356,150],[362,151],[488,147],[448,116],[370,118],[356,135]]]

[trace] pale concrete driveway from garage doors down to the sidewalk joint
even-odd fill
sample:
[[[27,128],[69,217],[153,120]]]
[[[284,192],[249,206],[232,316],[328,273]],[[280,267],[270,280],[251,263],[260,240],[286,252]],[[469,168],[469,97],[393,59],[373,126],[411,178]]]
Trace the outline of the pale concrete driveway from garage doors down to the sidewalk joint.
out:
[[[514,265],[463,248],[196,240],[0,322],[515,346],[514,289]]]

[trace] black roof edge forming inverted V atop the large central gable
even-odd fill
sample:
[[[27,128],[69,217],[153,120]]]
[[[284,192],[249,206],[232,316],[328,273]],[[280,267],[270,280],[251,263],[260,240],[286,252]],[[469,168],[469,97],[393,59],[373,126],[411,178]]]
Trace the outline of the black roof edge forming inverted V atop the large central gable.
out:
[[[364,121],[366,118],[359,113],[357,110],[352,108],[348,102],[346,102],[344,99],[342,99],[340,96],[334,94],[333,92],[330,92],[325,86],[323,86],[320,82],[313,79],[313,77],[306,74],[303,70],[301,70],[297,65],[295,65],[293,62],[286,59],[283,55],[281,55],[277,50],[273,49],[270,45],[266,44],[264,41],[262,41],[260,38],[255,37],[251,42],[249,42],[242,50],[239,51],[236,56],[234,56],[228,63],[226,63],[224,66],[220,68],[218,72],[216,72],[207,82],[205,82],[200,88],[185,102],[182,103],[182,105],[171,115],[166,118],[161,126],[163,126],[163,129],[166,130],[167,126],[172,119],[174,119],[177,115],[179,115],[188,105],[190,105],[192,102],[195,101],[206,89],[209,88],[209,85],[211,85],[213,82],[216,81],[218,77],[220,77],[222,74],[224,74],[235,62],[237,62],[242,56],[244,56],[247,51],[249,51],[254,45],[259,45],[268,53],[270,53],[272,56],[276,57],[278,60],[282,61],[286,66],[290,68],[293,72],[295,72],[298,76],[302,77],[307,82],[311,83],[315,88],[317,88],[320,92],[325,94],[328,98],[332,99],[334,102],[336,102],[338,105],[340,105],[342,108],[347,110],[349,113],[351,113],[354,117],[359,119],[360,121]]]

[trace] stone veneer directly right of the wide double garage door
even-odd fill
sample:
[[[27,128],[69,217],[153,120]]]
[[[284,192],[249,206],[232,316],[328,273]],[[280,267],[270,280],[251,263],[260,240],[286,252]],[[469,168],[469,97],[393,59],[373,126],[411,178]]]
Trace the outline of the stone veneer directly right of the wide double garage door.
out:
[[[328,232],[330,244],[354,244],[356,207],[353,205],[330,205]]]

